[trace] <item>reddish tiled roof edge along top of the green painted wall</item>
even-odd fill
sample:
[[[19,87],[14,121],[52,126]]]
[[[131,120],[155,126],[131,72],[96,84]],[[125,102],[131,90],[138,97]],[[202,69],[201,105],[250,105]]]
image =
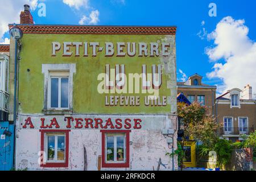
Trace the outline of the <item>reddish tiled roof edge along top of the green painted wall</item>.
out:
[[[9,24],[11,28],[14,24]],[[131,34],[131,35],[175,35],[176,26],[89,26],[15,24],[23,34]]]

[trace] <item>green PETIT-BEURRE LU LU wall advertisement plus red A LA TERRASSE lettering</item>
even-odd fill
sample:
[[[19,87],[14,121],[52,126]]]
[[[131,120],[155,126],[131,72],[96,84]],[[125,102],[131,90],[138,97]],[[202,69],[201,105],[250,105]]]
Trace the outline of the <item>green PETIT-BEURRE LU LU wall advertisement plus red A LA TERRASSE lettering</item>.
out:
[[[40,43],[36,40],[40,39]],[[20,64],[22,113],[52,110],[46,105],[44,64],[75,64],[67,109],[72,114],[169,114],[176,111],[175,35],[25,34]],[[34,49],[34,47],[37,47]],[[28,66],[29,65],[29,66]],[[30,72],[27,69],[30,69]],[[54,68],[53,68],[54,69]],[[29,88],[29,85],[35,85]],[[29,102],[32,100],[33,102]],[[72,100],[72,101],[71,101]],[[26,103],[26,104],[22,104]],[[42,109],[44,108],[44,109]],[[63,121],[62,121],[63,120]],[[23,128],[139,129],[139,118],[24,119]],[[28,125],[28,126],[27,126]]]

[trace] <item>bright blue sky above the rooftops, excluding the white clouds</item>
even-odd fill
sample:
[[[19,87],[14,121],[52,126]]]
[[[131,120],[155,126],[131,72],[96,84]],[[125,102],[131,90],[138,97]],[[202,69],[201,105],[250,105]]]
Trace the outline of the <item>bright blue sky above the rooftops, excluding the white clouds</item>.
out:
[[[17,0],[16,0],[17,1]],[[35,0],[30,0],[35,1]],[[66,3],[63,3],[66,1]],[[78,0],[87,2],[86,6],[67,5],[74,0],[45,0],[38,1],[46,4],[46,17],[39,17],[36,8],[32,11],[36,24],[79,24],[82,16],[89,17],[92,11],[98,11],[98,20],[94,24],[100,25],[137,25],[137,26],[177,26],[177,73],[182,77],[181,69],[185,75],[198,73],[203,76],[205,84],[223,85],[224,76],[208,78],[207,73],[212,71],[216,61],[210,61],[205,48],[214,47],[213,40],[204,36],[202,40],[197,34],[203,28],[209,34],[216,29],[216,25],[226,16],[232,16],[234,20],[244,19],[243,26],[249,28],[250,42],[256,39],[256,1],[254,0],[197,0],[197,1],[149,1],[149,0]],[[76,0],[75,0],[76,1]],[[210,17],[209,3],[217,5],[217,16]],[[204,21],[204,25],[202,22]],[[12,23],[12,22],[10,22]],[[85,24],[89,23],[89,18]],[[8,36],[5,34],[5,36]],[[227,57],[219,57],[217,63],[225,64]],[[242,60],[241,60],[242,61]],[[255,65],[256,67],[256,65]],[[225,76],[226,77],[226,76]],[[246,82],[243,85],[247,84]],[[254,83],[251,83],[254,85]],[[236,84],[225,83],[225,89]],[[241,87],[241,84],[238,84]],[[238,87],[237,86],[237,87]],[[255,84],[256,86],[256,84]],[[256,88],[255,88],[256,89]]]

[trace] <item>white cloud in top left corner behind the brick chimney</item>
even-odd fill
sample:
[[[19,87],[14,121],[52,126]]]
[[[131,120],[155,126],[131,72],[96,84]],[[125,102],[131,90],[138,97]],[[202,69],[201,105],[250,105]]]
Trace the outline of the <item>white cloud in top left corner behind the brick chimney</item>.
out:
[[[30,5],[31,10],[35,10],[38,0],[8,0],[0,6],[0,42],[5,41],[3,35],[9,31],[9,23],[19,23],[20,11],[24,10],[23,5]]]

